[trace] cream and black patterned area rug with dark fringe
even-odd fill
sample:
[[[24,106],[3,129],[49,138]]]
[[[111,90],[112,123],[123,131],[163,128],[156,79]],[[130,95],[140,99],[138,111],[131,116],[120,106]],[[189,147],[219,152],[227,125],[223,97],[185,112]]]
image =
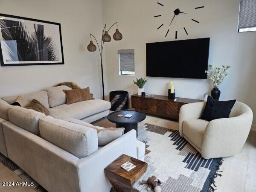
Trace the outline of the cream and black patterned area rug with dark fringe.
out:
[[[114,126],[108,119],[102,119],[94,125]],[[221,167],[222,158],[204,159],[192,145],[180,137],[179,131],[142,122],[138,125],[137,139],[146,145],[145,162],[148,163],[148,170],[134,184],[136,189],[147,192],[147,186],[140,185],[140,181],[147,180],[152,175],[162,182],[162,192],[212,192],[217,188],[214,179],[221,176],[218,169]],[[31,188],[35,191],[46,191],[2,154],[0,163],[24,181],[34,182]]]

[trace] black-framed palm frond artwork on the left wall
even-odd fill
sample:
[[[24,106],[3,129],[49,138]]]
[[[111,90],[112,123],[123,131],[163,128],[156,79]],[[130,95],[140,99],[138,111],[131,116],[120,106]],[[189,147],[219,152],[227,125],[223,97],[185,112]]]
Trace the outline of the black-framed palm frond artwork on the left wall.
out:
[[[61,24],[0,14],[1,66],[64,64]]]

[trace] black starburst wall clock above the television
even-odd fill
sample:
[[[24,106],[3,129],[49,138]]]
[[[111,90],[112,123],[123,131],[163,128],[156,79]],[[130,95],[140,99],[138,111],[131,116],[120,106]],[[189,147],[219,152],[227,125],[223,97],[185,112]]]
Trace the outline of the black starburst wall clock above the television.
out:
[[[163,3],[157,2],[157,6],[164,6],[164,5],[163,5]],[[195,10],[202,9],[202,8],[204,8],[204,6],[195,7]],[[158,26],[157,30],[158,30],[158,29],[162,29],[163,26],[167,25],[167,26],[168,26],[168,29],[167,29],[167,32],[165,33],[165,37],[167,37],[167,35],[169,34],[170,29],[171,29],[172,27],[175,27],[175,26],[174,26],[174,22],[173,22],[174,19],[175,19],[175,17],[178,17],[179,15],[187,15],[187,13],[186,13],[186,12],[183,12],[183,10],[180,9],[179,7],[176,8],[176,9],[173,11],[173,17],[170,18],[170,23],[166,23],[166,24],[162,23],[160,26]],[[155,15],[154,17],[162,17],[162,15]],[[191,19],[192,22],[200,23],[200,22],[199,22],[197,19],[195,19],[195,18],[189,18],[189,20],[190,20],[190,19]],[[188,33],[188,31],[187,31],[187,29],[186,29],[185,26],[183,27],[183,32],[184,32],[186,35],[189,35],[189,33]],[[177,37],[178,37],[178,30],[175,31],[175,39],[177,39]]]

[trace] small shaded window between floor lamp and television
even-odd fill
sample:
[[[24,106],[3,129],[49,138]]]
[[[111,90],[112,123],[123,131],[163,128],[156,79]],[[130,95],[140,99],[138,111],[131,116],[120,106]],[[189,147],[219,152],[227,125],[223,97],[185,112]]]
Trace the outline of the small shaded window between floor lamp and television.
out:
[[[119,55],[119,75],[135,75],[134,69],[134,49],[118,50]]]

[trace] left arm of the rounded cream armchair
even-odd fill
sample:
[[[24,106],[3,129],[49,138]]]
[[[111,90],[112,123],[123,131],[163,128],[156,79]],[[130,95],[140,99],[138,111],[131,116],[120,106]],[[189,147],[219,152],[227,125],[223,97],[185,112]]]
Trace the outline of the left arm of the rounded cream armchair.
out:
[[[182,125],[187,119],[199,119],[202,116],[206,102],[196,102],[182,105],[179,114],[179,131],[183,137]]]

